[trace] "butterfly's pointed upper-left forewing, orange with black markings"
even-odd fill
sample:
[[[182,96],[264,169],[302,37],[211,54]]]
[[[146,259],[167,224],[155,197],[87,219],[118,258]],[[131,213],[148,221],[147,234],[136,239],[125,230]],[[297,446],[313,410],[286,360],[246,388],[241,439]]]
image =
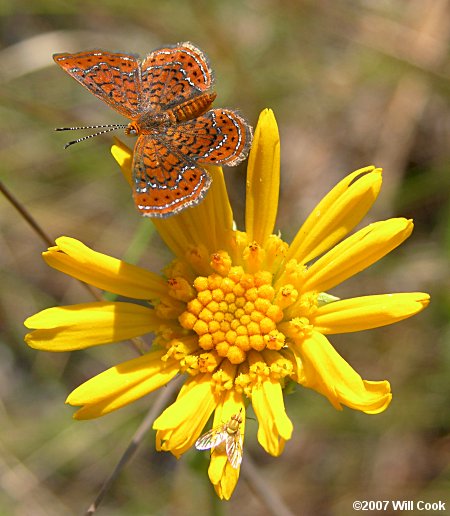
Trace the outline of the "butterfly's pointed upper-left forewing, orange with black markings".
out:
[[[141,112],[141,80],[138,60],[128,54],[88,50],[54,54],[65,72],[96,97],[127,118]]]

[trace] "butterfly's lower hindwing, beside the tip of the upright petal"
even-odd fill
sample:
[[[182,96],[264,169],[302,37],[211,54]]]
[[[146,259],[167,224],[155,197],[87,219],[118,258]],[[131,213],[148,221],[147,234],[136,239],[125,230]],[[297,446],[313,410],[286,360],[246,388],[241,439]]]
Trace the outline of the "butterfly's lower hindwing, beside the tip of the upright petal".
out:
[[[171,147],[200,164],[233,166],[247,156],[252,129],[234,111],[211,109],[169,127],[165,136]]]

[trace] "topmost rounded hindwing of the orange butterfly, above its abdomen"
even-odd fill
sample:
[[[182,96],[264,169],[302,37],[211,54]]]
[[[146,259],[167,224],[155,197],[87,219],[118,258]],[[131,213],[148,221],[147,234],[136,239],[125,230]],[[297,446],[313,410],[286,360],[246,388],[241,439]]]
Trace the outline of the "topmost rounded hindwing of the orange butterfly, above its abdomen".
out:
[[[141,64],[142,102],[155,112],[208,91],[213,74],[203,52],[191,43],[154,50]]]

